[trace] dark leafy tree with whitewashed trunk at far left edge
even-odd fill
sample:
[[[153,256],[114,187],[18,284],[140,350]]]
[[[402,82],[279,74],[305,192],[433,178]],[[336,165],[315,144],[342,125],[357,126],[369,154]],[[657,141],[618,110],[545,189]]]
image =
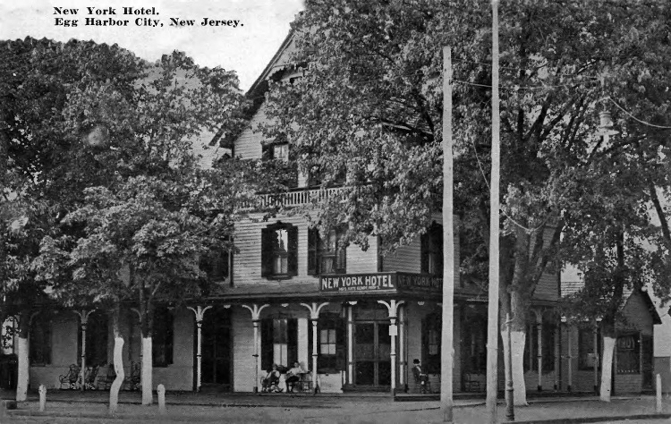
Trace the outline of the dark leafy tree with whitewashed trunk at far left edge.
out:
[[[17,401],[28,388],[30,317],[47,284],[28,264],[39,240],[77,201],[87,184],[106,178],[91,166],[90,152],[64,131],[64,109],[74,85],[120,78],[130,81],[140,69],[138,58],[117,46],[72,40],[0,42],[0,240],[3,260],[3,304],[0,318],[19,318]],[[127,94],[127,84],[120,85]],[[88,157],[87,157],[88,156]],[[19,225],[16,225],[19,223]]]

